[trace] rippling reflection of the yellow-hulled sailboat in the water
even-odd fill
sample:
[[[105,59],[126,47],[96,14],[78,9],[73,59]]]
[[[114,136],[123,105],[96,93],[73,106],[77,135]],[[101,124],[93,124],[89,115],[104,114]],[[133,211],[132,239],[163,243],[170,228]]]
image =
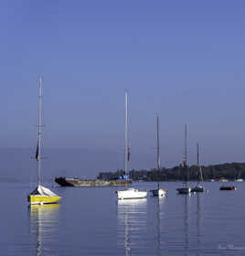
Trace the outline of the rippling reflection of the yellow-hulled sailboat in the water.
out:
[[[37,240],[34,255],[54,255],[48,243],[57,240],[60,204],[30,205],[30,232]]]

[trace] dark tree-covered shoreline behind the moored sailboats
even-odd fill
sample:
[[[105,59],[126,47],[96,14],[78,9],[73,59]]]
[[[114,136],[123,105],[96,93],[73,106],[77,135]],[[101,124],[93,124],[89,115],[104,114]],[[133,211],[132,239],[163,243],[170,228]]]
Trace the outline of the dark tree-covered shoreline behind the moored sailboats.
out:
[[[224,177],[229,180],[238,178],[245,179],[245,163],[226,163],[219,165],[202,166],[204,180],[220,179]],[[98,176],[100,179],[112,179],[122,176],[123,170],[116,172],[101,172]],[[172,168],[161,168],[160,170],[131,170],[130,178],[133,180],[144,181],[175,181],[185,180],[186,170],[183,165],[177,165]],[[191,165],[187,168],[188,180],[197,180],[197,165]]]

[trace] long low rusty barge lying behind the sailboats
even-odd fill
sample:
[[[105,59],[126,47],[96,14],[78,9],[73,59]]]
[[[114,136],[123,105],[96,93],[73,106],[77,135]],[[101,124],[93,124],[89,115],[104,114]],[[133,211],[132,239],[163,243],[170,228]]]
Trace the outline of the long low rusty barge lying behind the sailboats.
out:
[[[56,177],[55,182],[61,187],[123,187],[132,184],[132,180],[125,179],[102,180],[66,177]]]

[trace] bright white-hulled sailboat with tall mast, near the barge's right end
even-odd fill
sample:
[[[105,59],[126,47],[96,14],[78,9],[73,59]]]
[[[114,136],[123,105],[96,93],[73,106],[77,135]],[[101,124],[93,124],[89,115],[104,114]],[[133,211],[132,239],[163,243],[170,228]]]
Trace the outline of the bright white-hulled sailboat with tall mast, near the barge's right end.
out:
[[[125,92],[125,178],[128,178],[128,161],[130,155],[130,148],[128,146],[128,93]],[[141,191],[133,187],[125,187],[123,190],[116,191],[118,199],[133,199],[144,198],[147,196],[147,191]]]

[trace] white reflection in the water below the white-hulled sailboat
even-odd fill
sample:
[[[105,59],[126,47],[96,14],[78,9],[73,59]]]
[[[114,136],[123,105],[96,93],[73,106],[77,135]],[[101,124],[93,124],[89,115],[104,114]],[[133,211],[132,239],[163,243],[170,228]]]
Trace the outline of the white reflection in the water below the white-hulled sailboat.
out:
[[[117,206],[117,246],[124,248],[125,255],[132,255],[132,251],[144,251],[147,200],[118,200]]]

